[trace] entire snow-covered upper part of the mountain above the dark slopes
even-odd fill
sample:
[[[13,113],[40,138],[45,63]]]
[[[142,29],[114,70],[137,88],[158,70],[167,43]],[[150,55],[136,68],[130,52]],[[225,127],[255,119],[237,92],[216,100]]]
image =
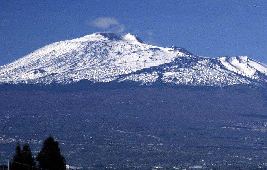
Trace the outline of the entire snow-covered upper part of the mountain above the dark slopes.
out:
[[[46,45],[0,67],[0,83],[69,84],[134,81],[140,84],[264,85],[267,65],[247,56],[205,58],[184,48],[145,44],[132,34],[97,33]]]

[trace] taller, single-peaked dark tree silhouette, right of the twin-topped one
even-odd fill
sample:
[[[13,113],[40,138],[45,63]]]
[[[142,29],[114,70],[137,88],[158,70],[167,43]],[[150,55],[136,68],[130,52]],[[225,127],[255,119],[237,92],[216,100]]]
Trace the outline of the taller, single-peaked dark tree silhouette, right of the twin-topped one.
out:
[[[39,167],[50,170],[65,170],[66,160],[60,153],[58,141],[50,135],[41,148],[41,151],[36,156],[36,161],[39,162]]]

